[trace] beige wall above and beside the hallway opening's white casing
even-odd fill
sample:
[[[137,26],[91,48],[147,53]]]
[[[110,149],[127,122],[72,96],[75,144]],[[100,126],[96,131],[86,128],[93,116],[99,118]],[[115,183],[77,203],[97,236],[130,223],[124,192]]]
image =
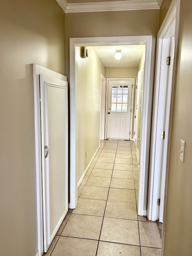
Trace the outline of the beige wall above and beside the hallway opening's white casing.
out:
[[[133,22],[134,20],[134,22]],[[159,29],[159,10],[137,11],[109,11],[65,14],[66,38],[66,75],[70,81],[69,72],[69,38],[78,37],[107,37],[107,36],[134,36],[152,35],[152,59],[149,90],[149,116],[147,130],[147,148],[150,149],[152,99],[154,86],[154,68],[156,38]],[[146,152],[146,175],[149,173],[150,150]],[[148,183],[145,184],[148,186]],[[144,209],[147,200],[144,202]]]

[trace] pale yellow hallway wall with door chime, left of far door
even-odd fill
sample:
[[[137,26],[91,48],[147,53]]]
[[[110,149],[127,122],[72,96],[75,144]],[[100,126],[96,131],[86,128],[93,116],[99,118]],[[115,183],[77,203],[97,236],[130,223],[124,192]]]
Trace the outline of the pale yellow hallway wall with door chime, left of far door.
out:
[[[88,58],[76,47],[76,116],[78,137],[78,182],[100,145],[101,74],[106,68],[92,47]],[[87,151],[87,157],[86,157]]]

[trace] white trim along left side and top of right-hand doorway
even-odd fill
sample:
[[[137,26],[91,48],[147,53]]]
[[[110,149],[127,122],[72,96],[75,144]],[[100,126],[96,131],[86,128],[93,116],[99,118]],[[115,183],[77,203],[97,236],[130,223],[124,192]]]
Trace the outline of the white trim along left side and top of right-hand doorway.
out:
[[[172,24],[176,18],[177,1],[174,0],[167,12],[164,22],[158,32],[157,38],[157,53],[156,53],[156,70],[155,70],[155,90],[154,90],[154,113],[152,119],[152,142],[151,142],[151,159],[150,159],[150,172],[149,172],[149,193],[148,193],[148,210],[147,217],[149,220],[155,221],[157,218],[157,198],[158,198],[158,182],[159,182],[159,168],[155,168],[156,143],[157,143],[157,129],[158,129],[158,104],[159,104],[159,89],[160,89],[160,75],[161,75],[161,55],[163,38],[167,38],[167,32],[172,33]],[[171,28],[171,30],[170,30]],[[157,170],[156,170],[157,169]]]

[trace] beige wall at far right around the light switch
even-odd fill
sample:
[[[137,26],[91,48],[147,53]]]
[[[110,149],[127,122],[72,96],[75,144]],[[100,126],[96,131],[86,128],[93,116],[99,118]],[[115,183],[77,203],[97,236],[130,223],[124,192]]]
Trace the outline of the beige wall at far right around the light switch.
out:
[[[176,82],[164,227],[164,256],[190,256],[192,252],[192,2],[180,5]],[[184,163],[179,160],[180,142],[185,144]]]

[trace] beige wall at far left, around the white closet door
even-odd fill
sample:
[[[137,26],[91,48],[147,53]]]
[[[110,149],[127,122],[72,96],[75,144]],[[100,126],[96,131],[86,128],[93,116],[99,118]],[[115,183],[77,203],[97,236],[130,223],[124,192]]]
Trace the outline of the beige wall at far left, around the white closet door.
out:
[[[0,8],[0,248],[35,256],[34,94],[31,63],[65,74],[65,15],[54,0],[2,0]]]

